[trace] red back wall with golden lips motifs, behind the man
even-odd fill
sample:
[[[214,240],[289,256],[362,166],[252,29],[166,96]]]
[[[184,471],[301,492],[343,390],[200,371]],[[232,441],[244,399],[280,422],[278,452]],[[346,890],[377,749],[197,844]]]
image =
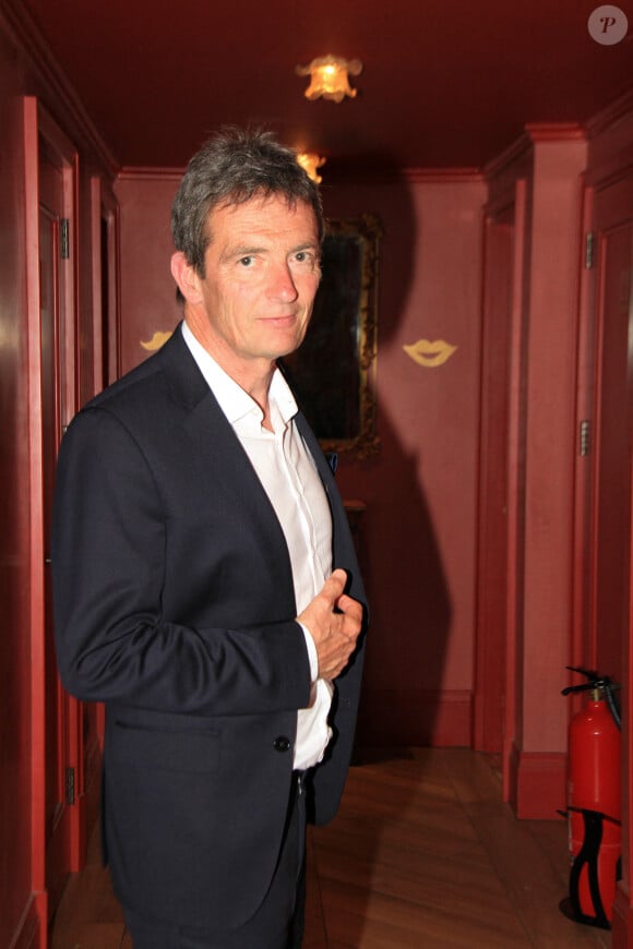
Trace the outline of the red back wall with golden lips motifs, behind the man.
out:
[[[123,367],[179,319],[169,275],[170,176],[124,177]],[[378,214],[379,454],[342,457],[345,497],[367,505],[361,556],[371,604],[359,741],[469,744],[474,686],[480,208],[476,177],[419,175],[324,188],[329,217]],[[140,279],[139,275],[142,275]],[[433,369],[403,347],[456,346]]]

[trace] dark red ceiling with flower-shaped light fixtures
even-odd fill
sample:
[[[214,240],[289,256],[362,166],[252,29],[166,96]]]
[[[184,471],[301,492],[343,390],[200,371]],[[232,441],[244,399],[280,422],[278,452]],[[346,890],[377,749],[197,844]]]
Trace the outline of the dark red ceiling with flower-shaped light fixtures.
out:
[[[526,123],[586,121],[633,84],[599,0],[22,0],[122,166],[180,167],[224,123],[329,166],[481,167]],[[357,98],[303,97],[295,67],[358,58]]]

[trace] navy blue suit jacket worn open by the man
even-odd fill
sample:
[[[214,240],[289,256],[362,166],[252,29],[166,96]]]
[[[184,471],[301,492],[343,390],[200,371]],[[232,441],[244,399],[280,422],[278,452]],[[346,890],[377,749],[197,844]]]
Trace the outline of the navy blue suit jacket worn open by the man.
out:
[[[297,423],[330,500],[333,563],[365,604],[332,471]],[[106,702],[119,899],[181,925],[239,925],[274,872],[310,671],[282,528],[180,329],[69,427],[52,578],[62,682]],[[362,641],[336,682],[318,822],[343,792],[361,660]]]

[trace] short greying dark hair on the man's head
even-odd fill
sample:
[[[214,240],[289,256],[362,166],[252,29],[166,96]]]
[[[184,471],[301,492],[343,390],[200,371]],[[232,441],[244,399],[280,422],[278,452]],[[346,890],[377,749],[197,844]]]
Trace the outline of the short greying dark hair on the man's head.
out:
[[[223,129],[192,157],[171,205],[171,233],[195,272],[204,277],[213,208],[253,197],[280,195],[290,207],[309,204],[323,238],[323,208],[316,184],[297,164],[295,152],[271,132]]]

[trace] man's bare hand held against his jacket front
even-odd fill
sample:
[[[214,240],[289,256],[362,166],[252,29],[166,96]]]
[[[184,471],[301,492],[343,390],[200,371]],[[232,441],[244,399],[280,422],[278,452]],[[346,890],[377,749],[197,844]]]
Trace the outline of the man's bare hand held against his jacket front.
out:
[[[298,621],[306,626],[319,659],[319,678],[336,678],[349,661],[362,626],[362,606],[344,593],[345,570],[334,570]]]

